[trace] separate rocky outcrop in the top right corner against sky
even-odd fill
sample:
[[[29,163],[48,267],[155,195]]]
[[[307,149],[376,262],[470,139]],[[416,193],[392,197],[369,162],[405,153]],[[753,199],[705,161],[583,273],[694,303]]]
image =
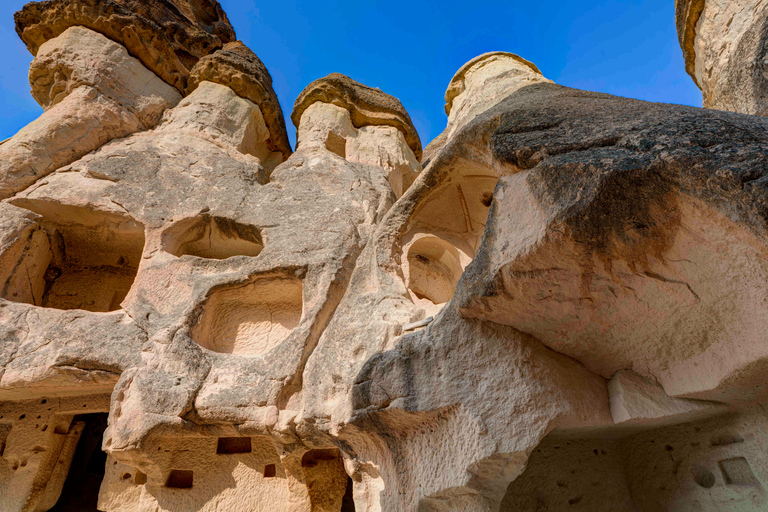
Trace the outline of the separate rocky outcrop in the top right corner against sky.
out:
[[[761,0],[676,0],[685,66],[704,106],[768,115],[768,10]]]

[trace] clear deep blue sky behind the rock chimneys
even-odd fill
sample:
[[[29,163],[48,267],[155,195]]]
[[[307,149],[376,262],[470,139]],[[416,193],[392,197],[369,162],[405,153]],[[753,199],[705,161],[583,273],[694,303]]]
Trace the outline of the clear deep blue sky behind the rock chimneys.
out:
[[[400,98],[426,146],[445,127],[453,74],[494,50],[521,55],[561,85],[701,106],[672,0],[220,1],[269,68],[294,144],[293,101],[312,80],[339,72]],[[0,2],[0,140],[41,112],[29,94],[32,56],[13,27],[24,3]]]

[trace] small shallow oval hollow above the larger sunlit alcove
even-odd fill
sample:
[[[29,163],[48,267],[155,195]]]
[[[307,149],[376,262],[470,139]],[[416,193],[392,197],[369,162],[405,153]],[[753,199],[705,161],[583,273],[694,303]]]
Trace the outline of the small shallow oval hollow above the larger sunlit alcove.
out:
[[[253,226],[203,215],[184,219],[169,228],[163,233],[163,248],[178,257],[223,260],[233,256],[258,256],[264,243],[261,233]]]

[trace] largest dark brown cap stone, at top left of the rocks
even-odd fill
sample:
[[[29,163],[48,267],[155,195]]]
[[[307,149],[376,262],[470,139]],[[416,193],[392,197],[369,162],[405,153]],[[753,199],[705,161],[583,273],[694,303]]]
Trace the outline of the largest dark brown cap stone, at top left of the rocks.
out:
[[[45,0],[30,2],[14,18],[33,55],[66,29],[83,26],[125,46],[179,92],[201,57],[236,39],[216,0]]]

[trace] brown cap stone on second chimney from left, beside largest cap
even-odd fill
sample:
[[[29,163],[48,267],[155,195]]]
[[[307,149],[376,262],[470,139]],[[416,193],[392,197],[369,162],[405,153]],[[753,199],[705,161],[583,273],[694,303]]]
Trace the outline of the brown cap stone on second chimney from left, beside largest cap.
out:
[[[187,94],[203,81],[226,85],[238,96],[258,105],[269,129],[270,151],[280,151],[286,158],[291,154],[283,110],[272,88],[272,76],[250,48],[237,41],[200,59],[190,73]]]

